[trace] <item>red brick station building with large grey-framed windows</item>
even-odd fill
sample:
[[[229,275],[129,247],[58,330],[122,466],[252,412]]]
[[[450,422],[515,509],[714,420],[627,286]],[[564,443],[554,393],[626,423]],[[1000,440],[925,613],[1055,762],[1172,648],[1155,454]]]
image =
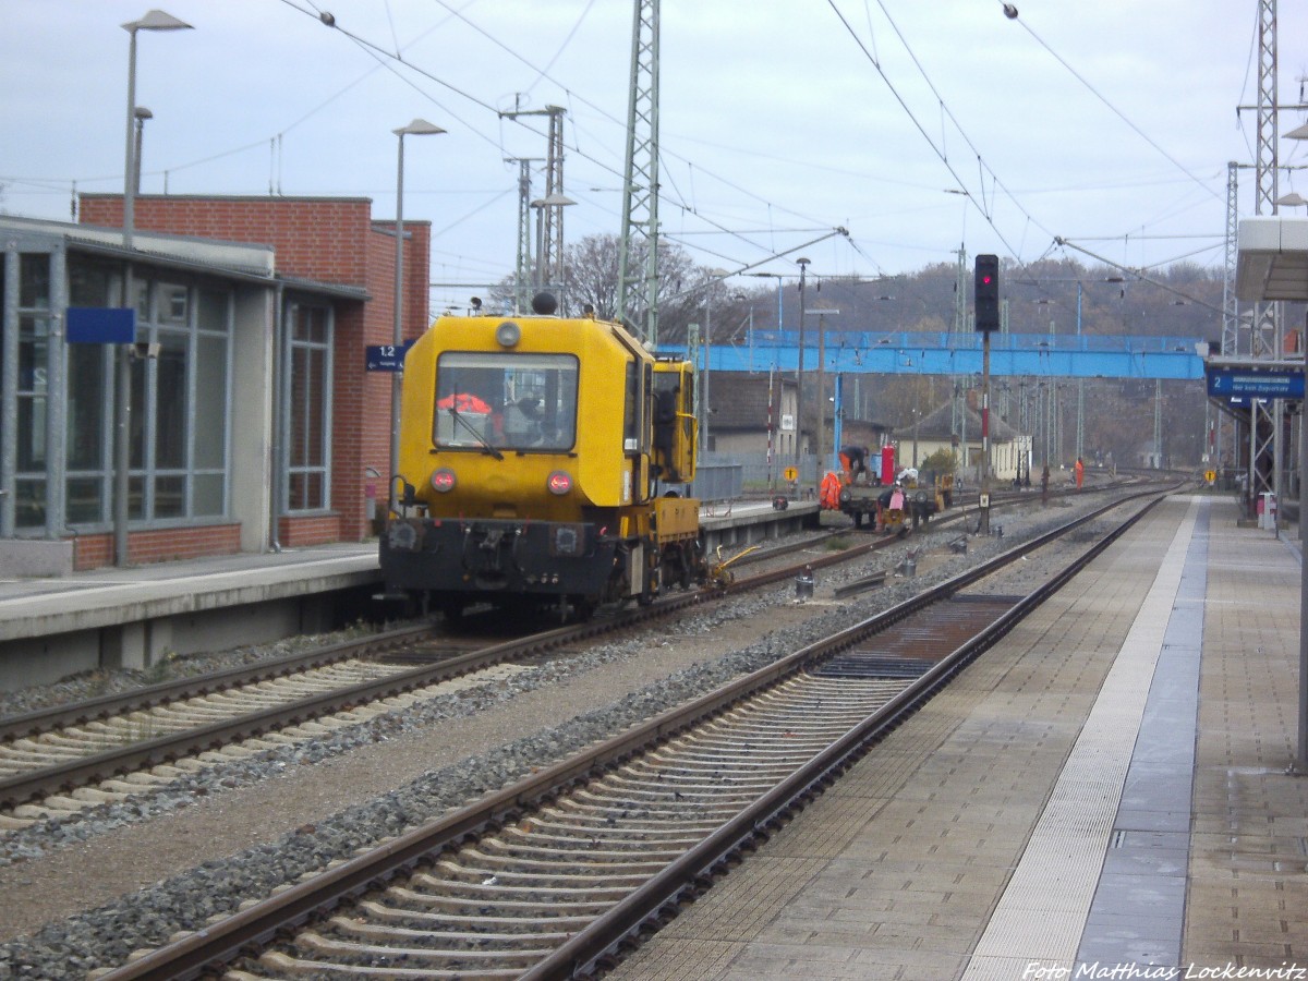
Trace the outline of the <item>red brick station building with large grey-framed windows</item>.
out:
[[[69,307],[123,307],[136,341],[128,562],[371,532],[385,506],[395,222],[362,198],[82,195],[78,224],[0,216],[0,568],[115,561],[115,362],[64,343]],[[430,225],[404,222],[403,335],[428,324]],[[153,348],[145,345],[154,345]],[[378,504],[381,502],[381,504]]]

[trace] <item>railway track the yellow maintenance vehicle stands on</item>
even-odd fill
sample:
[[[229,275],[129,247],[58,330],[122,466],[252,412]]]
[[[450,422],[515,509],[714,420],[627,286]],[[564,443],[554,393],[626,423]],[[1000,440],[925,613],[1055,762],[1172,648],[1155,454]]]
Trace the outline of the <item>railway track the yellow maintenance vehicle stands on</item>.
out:
[[[1033,498],[1022,502],[1032,504]],[[973,517],[960,508],[933,526],[967,525]],[[808,557],[802,565],[729,582],[725,589],[744,591],[786,582],[802,570],[846,562],[889,544],[889,539],[866,540]],[[812,540],[764,549],[744,562],[776,559],[806,545]],[[184,772],[298,744],[324,727],[357,725],[458,685],[493,683],[517,670],[515,663],[630,629],[721,591],[672,594],[644,610],[487,646],[442,637],[430,625],[405,627],[251,667],[0,721],[0,833],[152,793]]]

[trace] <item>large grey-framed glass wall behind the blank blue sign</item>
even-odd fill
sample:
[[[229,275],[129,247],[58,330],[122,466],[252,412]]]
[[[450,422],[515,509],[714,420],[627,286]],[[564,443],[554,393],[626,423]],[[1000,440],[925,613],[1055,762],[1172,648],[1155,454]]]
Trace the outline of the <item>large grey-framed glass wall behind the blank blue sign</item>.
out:
[[[8,493],[0,497],[0,534],[85,534],[112,525],[120,348],[67,344],[54,328],[65,305],[122,306],[123,273],[119,263],[56,246],[24,251],[10,243],[3,254],[0,477]],[[135,340],[153,348],[129,370],[128,515],[162,523],[221,518],[230,509],[234,289],[137,266],[131,296]]]

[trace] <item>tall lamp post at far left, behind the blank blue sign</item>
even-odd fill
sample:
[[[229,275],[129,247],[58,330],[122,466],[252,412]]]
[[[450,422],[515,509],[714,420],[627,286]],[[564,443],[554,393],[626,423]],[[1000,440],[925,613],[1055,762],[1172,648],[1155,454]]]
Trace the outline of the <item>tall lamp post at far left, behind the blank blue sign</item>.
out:
[[[191,25],[179,21],[164,10],[150,10],[139,21],[123,25],[131,42],[127,47],[127,148],[123,166],[123,249],[132,247],[136,225],[136,31],[139,30],[190,30]],[[145,110],[149,112],[149,110]],[[148,116],[141,116],[145,119]],[[132,260],[123,267],[123,306],[136,309],[132,288]],[[114,564],[128,564],[127,542],[127,468],[131,466],[131,411],[132,411],[132,344],[118,348],[118,371],[114,379]]]

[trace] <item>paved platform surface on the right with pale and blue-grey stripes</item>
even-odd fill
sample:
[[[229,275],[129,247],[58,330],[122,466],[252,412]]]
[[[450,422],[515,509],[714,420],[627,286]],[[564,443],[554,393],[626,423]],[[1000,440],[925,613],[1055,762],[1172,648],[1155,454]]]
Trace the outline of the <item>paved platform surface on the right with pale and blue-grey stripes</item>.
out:
[[[611,978],[1308,977],[1301,560],[1175,497]]]

